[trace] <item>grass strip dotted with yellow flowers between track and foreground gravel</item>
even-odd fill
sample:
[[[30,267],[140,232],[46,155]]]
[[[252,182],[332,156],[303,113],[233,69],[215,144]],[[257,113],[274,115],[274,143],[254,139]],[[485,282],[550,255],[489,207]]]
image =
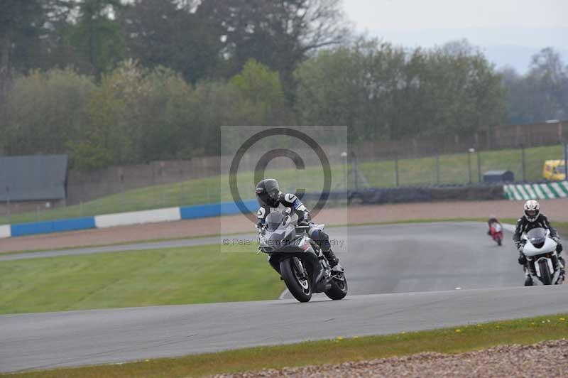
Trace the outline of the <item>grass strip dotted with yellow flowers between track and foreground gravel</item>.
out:
[[[28,372],[10,377],[199,377],[224,372],[373,360],[420,352],[460,353],[495,345],[527,345],[568,338],[567,318],[568,314],[551,315],[396,335],[256,347],[123,365]]]

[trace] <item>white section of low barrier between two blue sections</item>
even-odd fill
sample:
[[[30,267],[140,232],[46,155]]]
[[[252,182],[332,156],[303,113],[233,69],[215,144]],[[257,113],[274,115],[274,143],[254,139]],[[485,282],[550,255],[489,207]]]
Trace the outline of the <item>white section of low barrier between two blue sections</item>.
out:
[[[121,212],[119,214],[97,215],[94,224],[97,228],[138,225],[141,223],[158,223],[181,220],[180,207],[168,209]]]

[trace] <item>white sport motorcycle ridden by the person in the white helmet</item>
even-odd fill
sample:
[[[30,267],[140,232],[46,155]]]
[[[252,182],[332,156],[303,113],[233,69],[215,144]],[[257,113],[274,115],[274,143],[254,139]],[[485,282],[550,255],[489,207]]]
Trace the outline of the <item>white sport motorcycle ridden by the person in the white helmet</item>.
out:
[[[544,228],[531,229],[523,235],[526,240],[523,254],[527,258],[528,274],[533,285],[559,285],[564,281],[560,261],[556,252],[557,243],[549,237]]]

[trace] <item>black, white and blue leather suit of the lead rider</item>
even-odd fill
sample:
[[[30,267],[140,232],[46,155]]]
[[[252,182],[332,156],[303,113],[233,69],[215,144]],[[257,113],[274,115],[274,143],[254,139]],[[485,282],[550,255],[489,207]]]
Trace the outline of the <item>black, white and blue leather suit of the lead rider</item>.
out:
[[[273,211],[281,211],[279,209],[280,205],[283,207],[290,207],[293,212],[297,215],[297,224],[309,225],[310,228],[307,229],[307,234],[312,238],[314,242],[322,249],[322,253],[329,261],[329,265],[335,266],[339,262],[339,259],[335,257],[332,251],[332,246],[329,243],[329,235],[323,232],[321,229],[315,227],[314,223],[311,222],[310,212],[307,211],[305,205],[297,198],[296,195],[291,193],[280,193],[278,195],[278,205],[277,207],[262,206],[256,212],[256,217],[258,218],[257,227],[263,227],[264,222],[268,214]]]

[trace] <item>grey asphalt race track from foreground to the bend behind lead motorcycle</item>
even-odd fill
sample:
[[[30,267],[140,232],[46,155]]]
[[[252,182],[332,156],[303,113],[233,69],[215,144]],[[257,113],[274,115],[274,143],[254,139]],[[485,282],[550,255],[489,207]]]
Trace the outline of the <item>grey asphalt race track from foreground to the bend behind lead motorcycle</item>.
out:
[[[497,247],[486,235],[486,225],[475,222],[327,231],[338,243],[344,240],[343,248],[339,244],[335,248],[349,280],[350,294],[343,301],[317,296],[310,303],[284,299],[1,315],[0,371],[124,362],[568,312],[568,286],[520,286],[524,277],[509,232],[505,246]],[[212,241],[167,243],[175,247],[171,244],[198,245],[204,240]],[[133,247],[112,249],[141,249]],[[267,265],[267,269],[271,268]]]

